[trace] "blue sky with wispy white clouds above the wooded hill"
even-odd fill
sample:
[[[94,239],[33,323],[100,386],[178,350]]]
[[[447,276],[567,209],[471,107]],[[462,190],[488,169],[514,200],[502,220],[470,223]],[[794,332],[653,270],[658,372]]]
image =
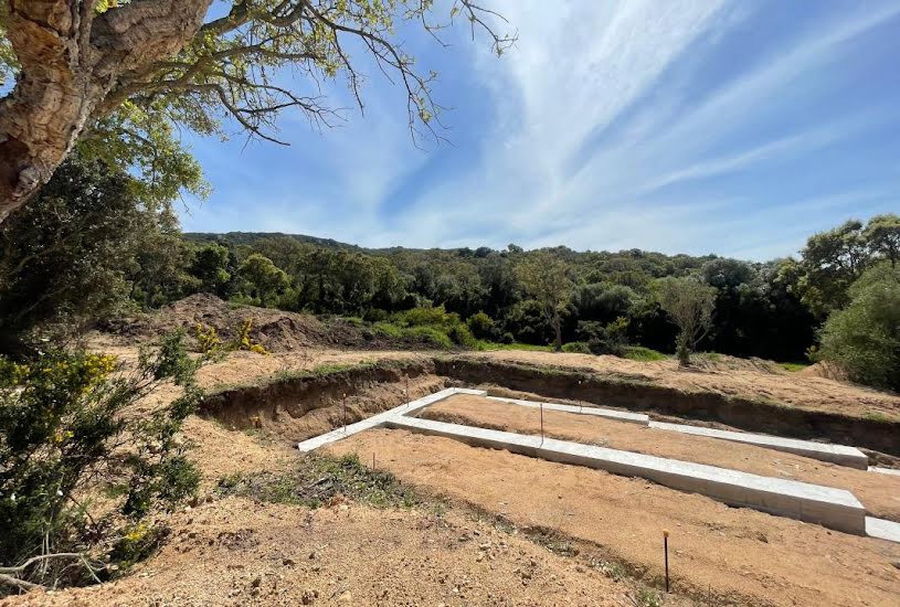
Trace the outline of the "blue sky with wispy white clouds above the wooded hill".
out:
[[[360,52],[364,113],[327,84],[336,128],[186,136],[213,193],[186,199],[183,228],[765,260],[900,212],[897,0],[483,4],[518,32],[499,58],[466,26],[447,47],[398,32],[438,73],[449,143],[413,143],[403,92]]]

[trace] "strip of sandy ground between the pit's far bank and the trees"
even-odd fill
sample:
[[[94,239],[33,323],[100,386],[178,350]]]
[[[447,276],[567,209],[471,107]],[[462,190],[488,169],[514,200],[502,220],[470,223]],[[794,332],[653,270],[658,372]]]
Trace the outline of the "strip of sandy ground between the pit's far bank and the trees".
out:
[[[800,408],[850,413],[860,417],[877,414],[900,418],[900,395],[825,377],[788,373],[764,361],[744,361],[723,355],[721,362],[703,361],[699,368],[684,370],[675,360],[638,362],[617,356],[519,350],[476,352],[469,355],[643,375],[660,385],[686,392],[766,397]]]

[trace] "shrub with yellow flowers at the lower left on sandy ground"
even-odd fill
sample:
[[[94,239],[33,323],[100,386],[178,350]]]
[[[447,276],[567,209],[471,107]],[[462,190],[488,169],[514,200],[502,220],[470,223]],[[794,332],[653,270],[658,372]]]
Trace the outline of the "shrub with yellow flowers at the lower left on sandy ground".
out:
[[[155,536],[149,528],[140,537],[135,530],[199,482],[178,438],[202,396],[199,364],[180,336],[142,351],[131,372],[113,356],[83,352],[53,351],[25,363],[0,359],[0,564],[83,553],[80,566],[50,558],[18,574],[40,585],[81,583],[89,579],[81,565],[109,562],[124,547],[121,537]],[[138,401],[169,382],[181,396],[134,415]],[[95,505],[89,496],[100,490],[109,500]]]

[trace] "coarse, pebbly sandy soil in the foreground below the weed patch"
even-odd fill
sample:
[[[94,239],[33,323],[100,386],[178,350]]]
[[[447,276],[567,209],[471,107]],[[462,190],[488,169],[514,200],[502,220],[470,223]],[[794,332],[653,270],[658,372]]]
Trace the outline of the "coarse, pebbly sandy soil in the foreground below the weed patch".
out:
[[[0,605],[633,606],[640,588],[454,509],[310,511],[227,498],[172,522],[168,545],[124,579]]]

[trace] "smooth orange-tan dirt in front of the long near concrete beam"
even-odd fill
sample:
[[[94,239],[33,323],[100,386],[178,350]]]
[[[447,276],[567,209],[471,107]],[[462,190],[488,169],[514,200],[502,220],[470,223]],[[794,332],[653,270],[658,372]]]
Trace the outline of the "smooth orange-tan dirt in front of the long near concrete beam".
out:
[[[354,451],[363,461],[374,452],[404,482],[602,546],[646,578],[663,573],[660,541],[669,530],[676,588],[711,605],[893,607],[900,596],[900,545],[890,542],[402,430],[361,433],[329,450]]]

